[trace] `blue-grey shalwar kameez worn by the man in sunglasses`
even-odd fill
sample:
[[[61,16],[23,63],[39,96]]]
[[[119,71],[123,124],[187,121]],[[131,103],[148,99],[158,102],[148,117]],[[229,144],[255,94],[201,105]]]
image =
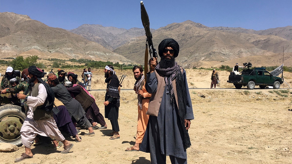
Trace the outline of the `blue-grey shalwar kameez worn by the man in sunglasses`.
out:
[[[185,70],[183,70],[182,75],[187,99],[185,119],[194,119]],[[168,83],[170,82],[168,81]],[[156,93],[157,78],[154,72],[147,74],[145,87],[148,93]],[[175,108],[173,109],[173,107]],[[148,111],[149,109],[150,107]],[[167,87],[164,87],[158,116],[149,116],[140,151],[150,152],[151,163],[166,163],[166,155],[170,156],[172,163],[187,163],[187,153],[183,147],[183,129],[181,127],[177,105],[171,104],[170,91]]]

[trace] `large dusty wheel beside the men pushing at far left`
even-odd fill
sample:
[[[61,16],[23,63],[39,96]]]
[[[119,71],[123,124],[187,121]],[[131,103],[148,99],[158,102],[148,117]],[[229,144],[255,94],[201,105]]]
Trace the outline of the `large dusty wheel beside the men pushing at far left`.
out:
[[[20,129],[25,120],[25,113],[16,105],[0,107],[0,142],[21,146]]]

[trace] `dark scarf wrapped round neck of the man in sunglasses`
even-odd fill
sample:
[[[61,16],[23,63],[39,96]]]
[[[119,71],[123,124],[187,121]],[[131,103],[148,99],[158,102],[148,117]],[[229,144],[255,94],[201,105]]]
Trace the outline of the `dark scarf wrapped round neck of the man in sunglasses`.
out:
[[[185,114],[187,112],[187,95],[186,95],[186,88],[185,88],[185,83],[183,81],[183,74],[181,72],[180,66],[177,64],[177,62],[175,62],[175,65],[171,68],[167,68],[167,69],[161,69],[159,66],[159,63],[157,64],[157,66],[155,67],[155,70],[157,72],[160,72],[161,74],[164,75],[164,80],[166,83],[166,89],[170,90],[171,93],[171,104],[173,105],[173,107],[175,106],[176,102],[178,101],[178,116],[180,118],[180,124],[183,128],[183,132],[184,132],[184,139],[183,139],[183,146],[184,146],[184,150],[186,150],[187,148],[189,148],[191,146],[191,142],[190,142],[190,136],[189,133],[187,132],[187,130],[185,129]],[[174,98],[174,93],[173,93],[173,86],[172,86],[172,81],[175,79],[175,86],[176,86],[176,90],[177,90],[177,95],[178,95],[178,100],[175,100]],[[177,109],[177,108],[175,108]]]

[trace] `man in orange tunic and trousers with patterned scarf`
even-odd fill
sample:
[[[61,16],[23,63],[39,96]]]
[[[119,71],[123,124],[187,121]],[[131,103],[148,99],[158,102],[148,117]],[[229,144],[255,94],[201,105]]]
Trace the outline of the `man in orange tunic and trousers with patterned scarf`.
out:
[[[139,145],[142,142],[144,133],[147,127],[149,115],[146,114],[148,110],[149,99],[151,94],[145,89],[145,79],[143,75],[143,68],[140,65],[133,67],[134,78],[136,79],[134,90],[138,94],[138,123],[136,143],[132,147],[128,147],[126,151],[139,151]]]

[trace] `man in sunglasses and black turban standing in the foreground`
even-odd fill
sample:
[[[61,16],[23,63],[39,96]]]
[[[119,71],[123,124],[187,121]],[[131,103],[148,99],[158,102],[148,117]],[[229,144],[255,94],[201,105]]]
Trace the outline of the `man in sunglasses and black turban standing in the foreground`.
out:
[[[158,46],[160,62],[149,60],[145,88],[152,94],[150,116],[140,151],[150,153],[151,163],[166,163],[166,155],[171,163],[187,163],[187,130],[194,115],[185,70],[175,62],[178,53],[178,42],[164,39]]]

